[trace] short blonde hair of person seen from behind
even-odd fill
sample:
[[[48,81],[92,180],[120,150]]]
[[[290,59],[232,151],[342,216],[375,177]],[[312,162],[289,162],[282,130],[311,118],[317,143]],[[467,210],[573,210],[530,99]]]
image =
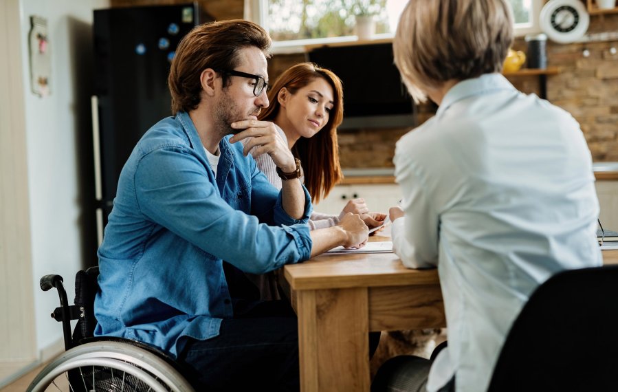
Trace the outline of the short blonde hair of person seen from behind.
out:
[[[448,80],[501,72],[513,43],[506,0],[410,0],[393,40],[395,65],[415,102]]]

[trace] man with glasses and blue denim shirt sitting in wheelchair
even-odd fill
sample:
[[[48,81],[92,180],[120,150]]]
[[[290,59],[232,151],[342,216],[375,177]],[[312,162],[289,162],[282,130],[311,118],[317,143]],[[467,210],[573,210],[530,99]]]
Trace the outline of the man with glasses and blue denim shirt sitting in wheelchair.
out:
[[[297,390],[294,312],[239,298],[235,272],[261,274],[368,236],[352,214],[309,232],[300,162],[257,120],[269,103],[269,45],[248,21],[201,25],[181,41],[168,80],[174,116],[124,165],[98,251],[95,334],[170,353],[197,390]],[[254,146],[278,166],[280,192],[247,156]]]

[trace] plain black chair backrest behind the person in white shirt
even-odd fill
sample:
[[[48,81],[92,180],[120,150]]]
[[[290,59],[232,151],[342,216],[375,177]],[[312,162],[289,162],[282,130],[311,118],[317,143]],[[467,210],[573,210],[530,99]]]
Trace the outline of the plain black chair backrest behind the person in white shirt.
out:
[[[489,391],[618,389],[618,265],[569,270],[532,294]]]

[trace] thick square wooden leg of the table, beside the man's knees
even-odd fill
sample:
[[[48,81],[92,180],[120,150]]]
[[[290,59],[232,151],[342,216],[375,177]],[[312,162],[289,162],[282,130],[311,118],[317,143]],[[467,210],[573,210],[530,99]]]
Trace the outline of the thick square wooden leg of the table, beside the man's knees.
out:
[[[301,391],[369,391],[366,287],[297,294]]]

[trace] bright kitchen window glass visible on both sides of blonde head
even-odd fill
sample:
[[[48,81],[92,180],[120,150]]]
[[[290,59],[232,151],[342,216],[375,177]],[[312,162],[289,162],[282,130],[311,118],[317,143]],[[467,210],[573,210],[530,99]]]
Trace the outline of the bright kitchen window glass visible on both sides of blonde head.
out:
[[[542,0],[508,0],[516,35],[540,32]],[[275,52],[302,45],[356,41],[356,15],[371,14],[375,39],[391,38],[408,0],[245,0],[247,19],[271,35]]]

